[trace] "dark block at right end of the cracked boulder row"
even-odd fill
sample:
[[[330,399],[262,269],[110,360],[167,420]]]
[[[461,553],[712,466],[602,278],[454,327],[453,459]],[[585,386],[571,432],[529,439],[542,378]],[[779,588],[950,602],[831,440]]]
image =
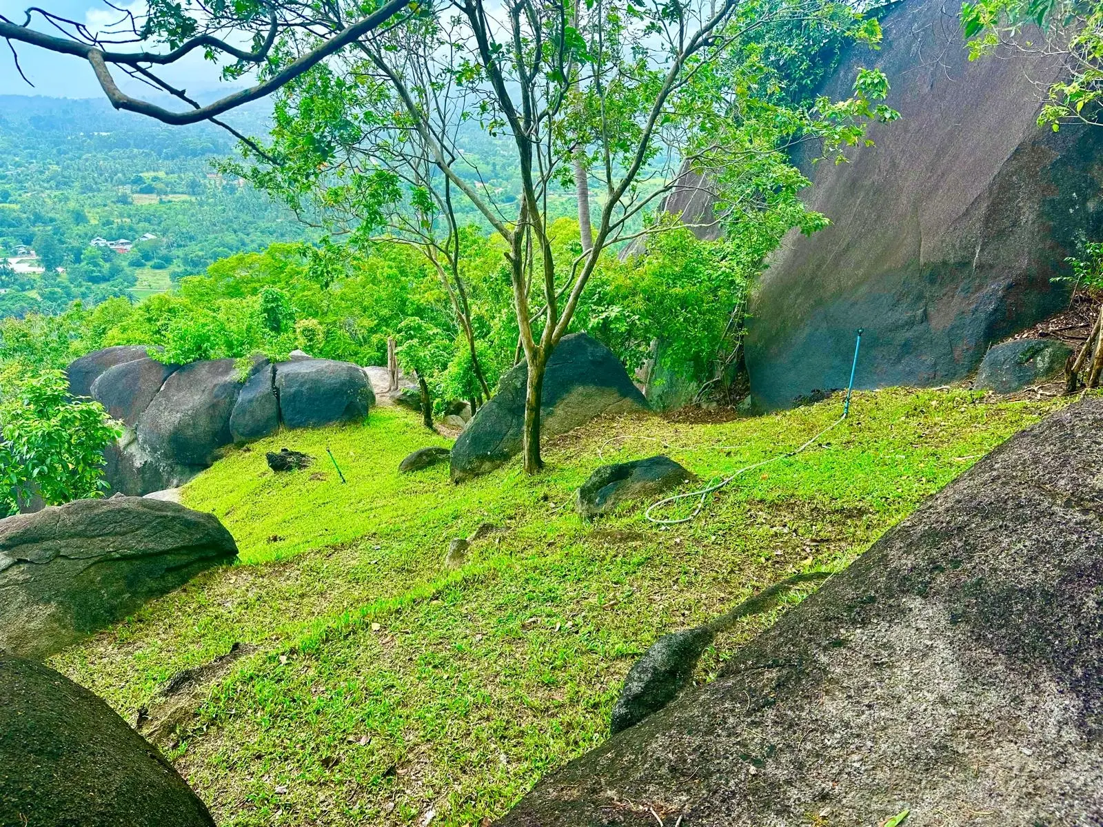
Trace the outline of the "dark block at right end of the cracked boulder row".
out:
[[[303,359],[276,369],[276,389],[283,425],[314,428],[333,422],[357,422],[375,404],[364,369],[347,362]]]

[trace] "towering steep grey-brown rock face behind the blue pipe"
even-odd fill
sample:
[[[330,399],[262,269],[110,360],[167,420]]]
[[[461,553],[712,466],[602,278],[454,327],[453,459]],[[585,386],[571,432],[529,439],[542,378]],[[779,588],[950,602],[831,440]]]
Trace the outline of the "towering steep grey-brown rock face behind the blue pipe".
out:
[[[908,0],[882,28],[881,49],[855,45],[822,92],[847,97],[858,67],[878,66],[901,119],[874,126],[875,146],[850,163],[797,159],[805,201],[832,226],[789,237],[752,303],[747,366],[762,408],[846,387],[857,327],[857,387],[968,375],[992,343],[1068,303],[1051,278],[1069,275],[1078,236],[1103,230],[1103,130],[1036,123],[1058,66],[971,63],[956,4]]]

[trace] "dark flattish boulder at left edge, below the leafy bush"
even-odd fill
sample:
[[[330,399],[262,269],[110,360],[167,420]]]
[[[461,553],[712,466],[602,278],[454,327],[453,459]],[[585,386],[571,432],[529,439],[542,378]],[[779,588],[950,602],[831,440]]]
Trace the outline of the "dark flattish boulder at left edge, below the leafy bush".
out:
[[[0,519],[0,649],[45,657],[236,556],[214,515],[158,500]]]

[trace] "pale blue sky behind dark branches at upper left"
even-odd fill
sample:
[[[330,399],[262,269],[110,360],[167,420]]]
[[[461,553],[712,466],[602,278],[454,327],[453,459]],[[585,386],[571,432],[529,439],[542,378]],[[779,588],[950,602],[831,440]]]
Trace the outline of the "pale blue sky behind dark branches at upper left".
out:
[[[52,13],[79,20],[97,29],[119,17],[118,12],[100,0],[0,0],[0,13],[14,23],[22,23],[23,10],[32,4],[39,4]],[[41,21],[41,18],[36,19]],[[41,22],[34,28],[49,31]],[[18,51],[19,64],[34,86],[29,86],[19,76],[11,52],[0,42],[0,95],[45,95],[65,98],[90,98],[103,95],[99,84],[92,74],[92,67],[85,61],[33,46],[22,45]],[[116,83],[124,92],[138,95],[142,94],[143,89],[148,90],[148,87],[120,78],[118,73],[115,74]],[[178,87],[201,96],[217,92],[219,88],[217,71],[204,61],[197,51],[182,61],[181,65],[173,67],[171,73],[167,72],[164,77]],[[239,85],[238,83],[238,87]]]

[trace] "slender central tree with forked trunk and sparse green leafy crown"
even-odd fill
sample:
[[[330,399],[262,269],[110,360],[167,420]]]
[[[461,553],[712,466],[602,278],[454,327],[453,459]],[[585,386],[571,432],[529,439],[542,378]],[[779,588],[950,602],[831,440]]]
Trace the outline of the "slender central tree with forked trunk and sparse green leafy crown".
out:
[[[806,181],[790,165],[789,146],[856,143],[858,119],[891,116],[871,103],[887,90],[878,72],[863,71],[846,101],[794,108],[767,99],[769,73],[746,47],[757,33],[837,20],[858,36],[879,36],[875,21],[845,7],[593,0],[577,13],[572,20],[575,8],[564,0],[419,6],[414,17],[290,82],[277,104],[274,142],[259,154],[246,148],[255,182],[283,190],[292,202],[314,193],[322,208],[345,208],[358,222],[350,232],[387,228],[413,241],[442,217],[447,237],[451,198],[476,208],[503,246],[528,367],[529,473],[542,465],[548,359],[603,253],[665,228],[641,222],[675,186],[682,161],[707,174],[722,205],[717,221],[738,222],[741,213],[795,201]],[[508,137],[520,198],[486,184],[470,149],[472,131]],[[557,262],[548,198],[571,186],[579,152],[602,207],[592,246]],[[802,217],[795,226],[812,223]]]

